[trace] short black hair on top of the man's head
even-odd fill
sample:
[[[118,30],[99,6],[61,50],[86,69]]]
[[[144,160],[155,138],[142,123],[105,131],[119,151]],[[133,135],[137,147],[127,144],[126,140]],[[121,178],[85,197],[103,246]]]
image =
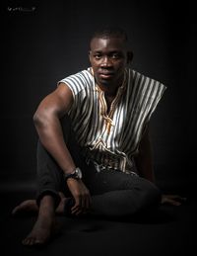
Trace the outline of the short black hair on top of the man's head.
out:
[[[91,41],[95,38],[99,38],[99,39],[115,38],[115,39],[122,39],[124,42],[128,41],[127,33],[119,27],[101,28],[93,34]]]

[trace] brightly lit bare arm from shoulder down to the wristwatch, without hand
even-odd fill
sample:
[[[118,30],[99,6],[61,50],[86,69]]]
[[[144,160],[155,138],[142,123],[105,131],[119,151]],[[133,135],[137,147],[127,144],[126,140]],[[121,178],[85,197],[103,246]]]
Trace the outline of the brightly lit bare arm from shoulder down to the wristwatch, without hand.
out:
[[[72,172],[76,167],[64,142],[60,124],[60,119],[68,112],[72,102],[72,92],[65,84],[60,84],[41,101],[33,115],[41,143],[65,173]]]

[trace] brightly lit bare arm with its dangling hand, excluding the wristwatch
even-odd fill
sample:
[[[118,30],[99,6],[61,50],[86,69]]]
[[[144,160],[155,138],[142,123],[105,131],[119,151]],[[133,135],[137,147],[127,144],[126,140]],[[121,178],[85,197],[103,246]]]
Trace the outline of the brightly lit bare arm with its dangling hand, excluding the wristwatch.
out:
[[[76,168],[65,144],[60,123],[60,119],[68,113],[72,102],[72,92],[65,84],[60,84],[54,92],[41,101],[33,116],[41,143],[64,173],[71,173]],[[83,181],[69,178],[67,185],[75,199],[72,213],[87,212],[91,206],[91,195]]]

